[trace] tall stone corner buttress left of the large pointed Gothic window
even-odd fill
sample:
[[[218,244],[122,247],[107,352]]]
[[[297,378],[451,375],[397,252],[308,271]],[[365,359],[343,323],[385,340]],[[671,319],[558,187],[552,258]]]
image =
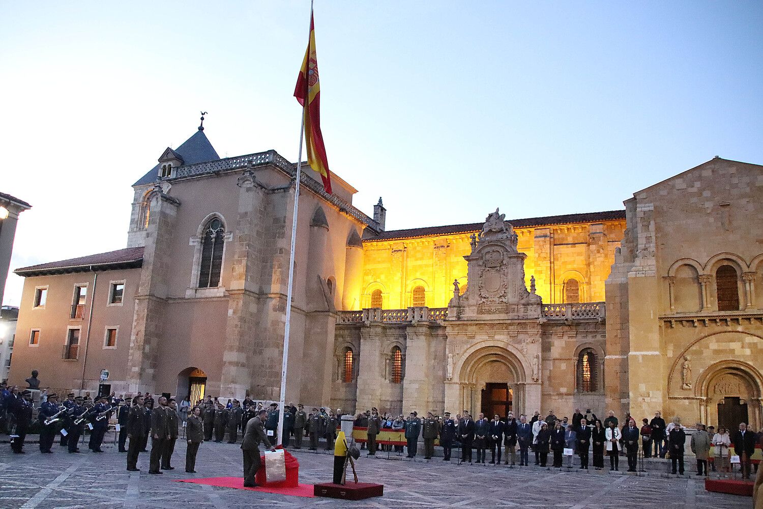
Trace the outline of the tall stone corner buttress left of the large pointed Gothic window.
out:
[[[173,262],[170,239],[175,228],[180,201],[157,188],[150,196],[151,215],[143,267],[135,292],[133,329],[127,356],[127,391],[153,394],[156,391],[157,350],[162,339],[167,297],[167,275]],[[175,391],[172,388],[168,392]]]

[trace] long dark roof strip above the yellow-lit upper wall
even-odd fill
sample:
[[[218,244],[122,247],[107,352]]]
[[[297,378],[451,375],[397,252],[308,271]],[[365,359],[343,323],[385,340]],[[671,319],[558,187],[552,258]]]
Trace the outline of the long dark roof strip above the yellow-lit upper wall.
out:
[[[559,216],[528,217],[526,219],[512,219],[509,220],[509,222],[515,228],[529,228],[550,226],[552,224],[597,223],[599,221],[613,221],[617,219],[625,219],[625,210],[584,212],[582,214],[563,214]],[[389,230],[381,232],[381,234],[376,237],[363,239],[363,242],[375,242],[376,240],[412,239],[416,237],[430,237],[433,235],[468,234],[470,232],[480,231],[483,224],[485,223],[449,224],[446,226],[410,228],[408,230]]]

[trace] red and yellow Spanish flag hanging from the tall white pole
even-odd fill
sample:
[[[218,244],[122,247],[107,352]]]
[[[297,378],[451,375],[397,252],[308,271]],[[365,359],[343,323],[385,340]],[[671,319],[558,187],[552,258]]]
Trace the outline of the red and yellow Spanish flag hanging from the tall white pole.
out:
[[[324,135],[320,133],[320,79],[318,79],[318,61],[315,53],[315,25],[310,14],[310,42],[304,53],[302,68],[299,69],[297,87],[294,96],[304,108],[304,139],[307,142],[307,163],[320,173],[324,180],[324,189],[331,193],[331,172],[326,157]]]

